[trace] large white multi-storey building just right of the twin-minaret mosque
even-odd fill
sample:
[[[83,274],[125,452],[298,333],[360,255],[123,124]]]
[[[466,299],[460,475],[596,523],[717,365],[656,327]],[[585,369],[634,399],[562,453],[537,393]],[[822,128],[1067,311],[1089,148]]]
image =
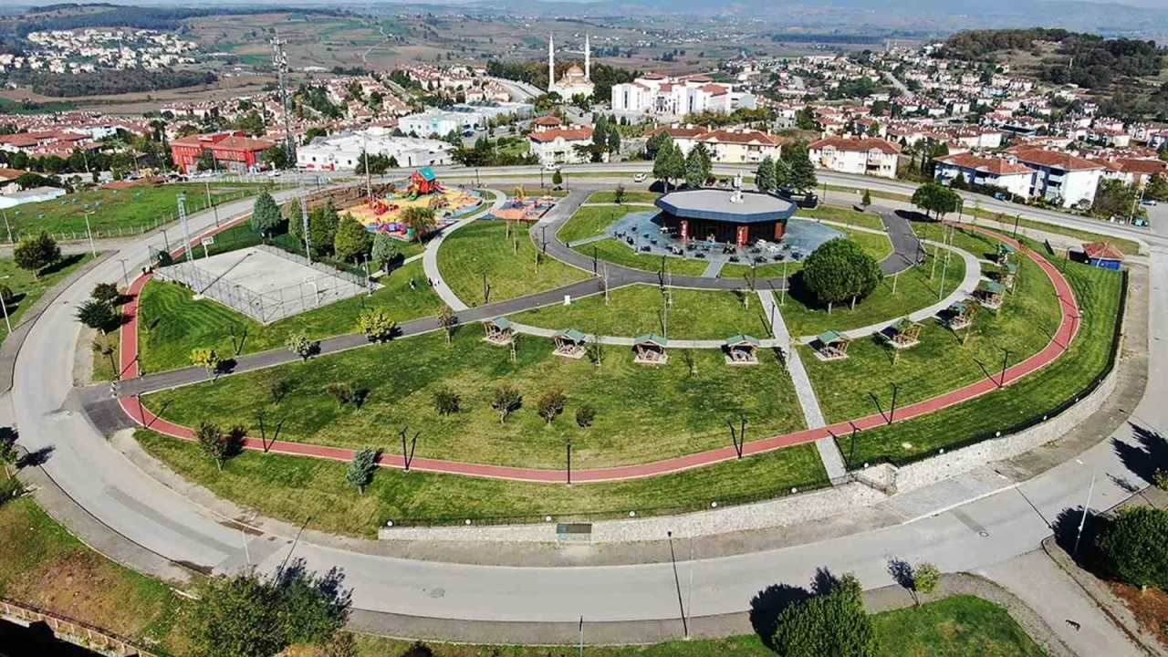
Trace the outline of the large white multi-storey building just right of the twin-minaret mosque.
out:
[[[681,117],[700,112],[730,113],[753,109],[755,96],[715,83],[704,75],[668,78],[645,74],[633,82],[612,85],[612,111],[617,115]]]

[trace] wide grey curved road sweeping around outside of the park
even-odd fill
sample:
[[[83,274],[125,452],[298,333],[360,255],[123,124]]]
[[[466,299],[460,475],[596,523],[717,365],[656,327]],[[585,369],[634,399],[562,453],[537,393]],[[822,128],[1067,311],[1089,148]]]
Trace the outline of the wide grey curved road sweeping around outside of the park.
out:
[[[827,178],[827,177],[823,177]],[[850,180],[849,180],[850,181]],[[865,186],[876,188],[874,185]],[[230,208],[232,214],[245,206]],[[1017,209],[1017,208],[1015,208]],[[1042,221],[1057,213],[1024,213]],[[1073,224],[1082,220],[1056,216]],[[208,215],[192,217],[192,230],[211,223]],[[1089,228],[1100,233],[1096,222]],[[1133,229],[1104,224],[1111,234],[1131,235]],[[1168,265],[1168,240],[1145,236],[1152,247],[1152,284],[1133,289],[1133,295],[1149,295],[1150,334],[1168,330],[1168,295],[1162,283]],[[78,412],[72,390],[74,350],[79,326],[74,307],[88,297],[96,282],[121,275],[118,257],[142,261],[147,241],[128,244],[82,276],[37,319],[15,364],[15,385],[9,396],[12,414],[22,443],[30,450],[51,448],[43,465],[50,476],[93,519],[120,534],[119,553],[130,562],[140,562],[134,546],[166,559],[209,572],[228,572],[245,563],[241,532],[230,523],[193,504],[159,484],[132,465]],[[1134,408],[1133,422],[1141,431],[1168,426],[1168,394],[1162,367],[1168,362],[1168,341],[1153,339],[1149,350],[1149,382],[1143,400]],[[1135,402],[1136,400],[1129,400]],[[1128,404],[1126,408],[1131,408]],[[1112,440],[1138,449],[1140,440],[1129,424],[1118,429]],[[1083,504],[1087,486],[1098,475],[1093,509],[1107,509],[1129,497],[1132,484],[1143,485],[1139,472],[1128,468],[1112,441],[1105,440],[1038,477],[988,497],[906,524],[861,532],[846,538],[812,541],[806,545],[766,549],[725,558],[698,559],[682,563],[682,573],[693,573],[693,589],[687,610],[703,617],[741,613],[751,596],[776,582],[807,582],[816,568],[854,572],[865,587],[891,583],[889,558],[910,562],[930,560],[944,570],[994,568],[1016,555],[1034,551],[1050,534],[1049,523],[1059,512]],[[895,499],[895,498],[894,498]],[[64,519],[82,538],[83,523]],[[274,569],[292,547],[286,538],[246,535],[250,559],[260,569]],[[646,546],[646,554],[668,554],[662,544]],[[662,552],[665,551],[665,552]],[[656,621],[662,635],[680,631],[674,572],[668,562],[639,566],[586,566],[558,568],[516,568],[467,566],[410,561],[350,552],[301,541],[296,555],[311,568],[340,567],[354,585],[353,602],[364,611],[388,614],[382,618],[445,618],[463,622],[495,621],[502,625],[479,628],[478,636],[500,641],[531,636],[538,623],[562,634],[552,641],[575,638],[576,622],[618,622],[610,625],[612,636],[645,636],[644,622]],[[647,559],[649,556],[646,556]],[[627,623],[638,621],[642,623]],[[425,631],[429,621],[410,625]],[[667,623],[661,625],[661,623]],[[443,625],[449,628],[450,625]],[[499,629],[502,628],[502,629]],[[1094,631],[1085,627],[1083,636]],[[509,632],[509,634],[508,634]],[[526,634],[524,634],[526,632]],[[545,635],[547,636],[547,635]],[[593,635],[595,636],[595,635]]]

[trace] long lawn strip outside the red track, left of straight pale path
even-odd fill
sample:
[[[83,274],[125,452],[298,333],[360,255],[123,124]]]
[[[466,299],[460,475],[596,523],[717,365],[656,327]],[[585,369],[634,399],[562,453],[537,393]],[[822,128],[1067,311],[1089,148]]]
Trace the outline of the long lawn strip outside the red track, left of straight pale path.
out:
[[[561,520],[584,513],[597,514],[597,519],[627,518],[630,511],[639,516],[680,513],[709,509],[711,502],[726,505],[769,499],[790,493],[791,487],[827,482],[815,447],[802,444],[660,477],[570,487],[382,468],[360,495],[345,482],[345,463],[249,451],[229,461],[220,472],[192,442],[146,430],[135,436],[154,457],[221,497],[290,521],[311,514],[312,526],[319,531],[366,538],[376,535],[390,519],[399,524],[410,519],[460,524],[467,518],[540,523],[549,514]],[[425,431],[418,441],[418,456],[426,456]],[[572,456],[575,466],[575,451]]]

